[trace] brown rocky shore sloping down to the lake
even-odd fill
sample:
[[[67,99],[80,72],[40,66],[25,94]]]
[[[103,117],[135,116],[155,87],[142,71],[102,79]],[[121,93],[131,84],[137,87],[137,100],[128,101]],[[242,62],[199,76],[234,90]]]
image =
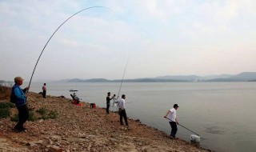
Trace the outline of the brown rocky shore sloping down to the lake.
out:
[[[75,106],[68,98],[30,93],[27,104],[34,111],[57,111],[58,116],[26,122],[26,132],[14,131],[16,122],[1,118],[0,151],[210,151],[170,139],[135,120],[128,120],[130,130],[126,130],[119,126],[118,114],[106,115],[106,110],[91,109],[89,103]],[[16,108],[11,109],[12,115],[17,113]]]

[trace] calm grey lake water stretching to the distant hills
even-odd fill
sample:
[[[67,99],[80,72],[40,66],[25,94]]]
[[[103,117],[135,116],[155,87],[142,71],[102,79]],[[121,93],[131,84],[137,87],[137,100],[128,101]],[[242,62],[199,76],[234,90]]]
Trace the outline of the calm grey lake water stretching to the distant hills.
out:
[[[28,83],[24,83],[25,87]],[[84,102],[106,107],[106,93],[117,94],[120,83],[48,82],[47,94],[70,98],[70,89],[79,90]],[[30,91],[42,91],[32,82]],[[163,118],[174,103],[178,122],[200,134],[200,145],[214,151],[256,151],[256,82],[150,82],[122,83],[128,117],[170,134]],[[190,141],[190,131],[178,126],[177,136]]]

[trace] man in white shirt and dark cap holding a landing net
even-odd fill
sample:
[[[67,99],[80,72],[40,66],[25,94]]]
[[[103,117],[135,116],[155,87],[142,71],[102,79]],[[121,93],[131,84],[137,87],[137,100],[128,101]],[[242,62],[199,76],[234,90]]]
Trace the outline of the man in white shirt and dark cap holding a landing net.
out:
[[[178,105],[174,104],[174,108],[170,109],[167,111],[166,115],[164,116],[164,118],[167,118],[167,115],[170,114],[170,126],[171,126],[171,132],[170,132],[170,138],[172,139],[178,139],[175,137],[176,133],[177,133],[177,124],[178,124],[178,120],[176,118],[176,110],[178,110]]]

